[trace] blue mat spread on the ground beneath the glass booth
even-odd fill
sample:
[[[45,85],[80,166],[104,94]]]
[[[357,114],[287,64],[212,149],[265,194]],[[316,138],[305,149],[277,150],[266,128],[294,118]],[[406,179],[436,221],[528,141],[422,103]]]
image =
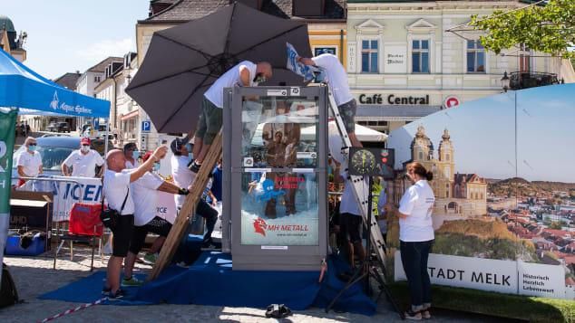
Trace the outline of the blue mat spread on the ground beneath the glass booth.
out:
[[[336,272],[346,270],[346,263],[328,260],[328,271],[318,283],[318,271],[232,271],[231,256],[221,252],[202,252],[190,268],[171,266],[157,280],[127,289],[127,296],[114,305],[200,304],[214,306],[266,308],[273,303],[286,304],[293,310],[325,308],[345,286]],[[142,277],[138,277],[142,278]],[[40,299],[92,302],[101,298],[105,272],[95,272]],[[360,284],[346,290],[335,310],[375,314],[375,303],[365,296]]]

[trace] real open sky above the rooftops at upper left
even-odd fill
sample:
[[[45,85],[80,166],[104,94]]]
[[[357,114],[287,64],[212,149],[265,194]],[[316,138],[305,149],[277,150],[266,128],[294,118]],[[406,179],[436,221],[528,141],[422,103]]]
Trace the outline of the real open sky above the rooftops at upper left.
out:
[[[26,32],[26,66],[48,79],[136,52],[136,24],[149,0],[0,0],[16,33]]]

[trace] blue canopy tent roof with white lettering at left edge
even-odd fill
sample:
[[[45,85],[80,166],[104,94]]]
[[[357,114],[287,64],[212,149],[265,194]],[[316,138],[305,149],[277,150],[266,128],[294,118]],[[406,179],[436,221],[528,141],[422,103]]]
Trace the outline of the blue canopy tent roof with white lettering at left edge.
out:
[[[109,118],[110,101],[67,90],[0,50],[0,107],[25,114]]]

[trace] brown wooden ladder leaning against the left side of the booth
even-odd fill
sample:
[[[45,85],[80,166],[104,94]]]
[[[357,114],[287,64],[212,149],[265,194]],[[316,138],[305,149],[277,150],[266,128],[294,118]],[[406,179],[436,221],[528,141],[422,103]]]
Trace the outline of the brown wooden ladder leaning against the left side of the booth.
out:
[[[214,138],[210,151],[208,151],[208,154],[200,167],[200,172],[198,172],[198,176],[196,176],[196,179],[194,180],[190,194],[186,196],[186,200],[181,206],[180,214],[171,226],[170,234],[168,234],[168,238],[161,248],[160,256],[154,264],[151,274],[148,276],[149,281],[158,278],[161,271],[170,264],[171,258],[174,253],[176,253],[176,250],[180,245],[181,238],[188,228],[188,223],[190,223],[190,214],[196,213],[196,204],[200,201],[201,195],[203,194],[206,185],[208,185],[208,180],[210,178],[209,175],[220,157],[221,130],[219,131],[218,136]]]

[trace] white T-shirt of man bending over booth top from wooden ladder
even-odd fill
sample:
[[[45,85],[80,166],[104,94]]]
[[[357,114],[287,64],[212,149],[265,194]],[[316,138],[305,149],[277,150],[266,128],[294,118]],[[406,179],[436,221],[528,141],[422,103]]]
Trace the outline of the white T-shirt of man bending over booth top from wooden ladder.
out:
[[[210,89],[204,93],[204,97],[210,100],[219,109],[224,108],[224,89],[233,88],[234,86],[243,86],[241,79],[239,77],[239,68],[245,66],[249,71],[249,86],[256,86],[257,83],[254,82],[256,78],[256,67],[257,65],[253,62],[243,61],[239,62],[238,65],[226,71],[222,76],[219,77],[211,86]]]

